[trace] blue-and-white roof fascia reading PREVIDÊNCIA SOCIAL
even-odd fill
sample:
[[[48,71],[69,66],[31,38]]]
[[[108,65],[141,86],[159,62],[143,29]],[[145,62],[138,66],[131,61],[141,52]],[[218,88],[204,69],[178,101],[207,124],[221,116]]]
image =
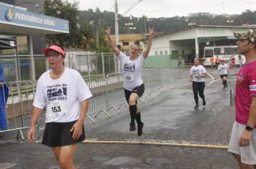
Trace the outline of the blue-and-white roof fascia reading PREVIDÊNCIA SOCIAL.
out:
[[[0,4],[0,32],[4,34],[68,34],[68,20]]]

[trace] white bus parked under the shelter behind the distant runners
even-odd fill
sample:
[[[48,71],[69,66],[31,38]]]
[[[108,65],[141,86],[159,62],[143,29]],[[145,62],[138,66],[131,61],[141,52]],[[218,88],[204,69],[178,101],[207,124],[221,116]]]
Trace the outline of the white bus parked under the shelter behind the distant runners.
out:
[[[210,58],[219,57],[219,61],[224,59],[227,64],[229,64],[229,61],[232,57],[235,59],[235,64],[239,64],[239,54],[237,53],[237,45],[234,46],[216,46],[216,47],[204,47],[204,65],[209,66],[211,65]],[[245,62],[245,57],[242,55],[242,64]]]

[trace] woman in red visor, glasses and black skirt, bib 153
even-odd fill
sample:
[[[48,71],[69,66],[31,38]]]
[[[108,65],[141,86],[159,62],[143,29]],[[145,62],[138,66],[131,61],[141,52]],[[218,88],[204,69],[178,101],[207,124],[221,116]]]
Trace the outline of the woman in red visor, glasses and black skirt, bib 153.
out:
[[[37,82],[29,142],[35,140],[35,126],[46,107],[42,144],[52,148],[60,168],[75,168],[77,143],[85,140],[83,122],[92,97],[86,82],[76,70],[64,67],[65,52],[56,45],[42,49],[50,70]]]

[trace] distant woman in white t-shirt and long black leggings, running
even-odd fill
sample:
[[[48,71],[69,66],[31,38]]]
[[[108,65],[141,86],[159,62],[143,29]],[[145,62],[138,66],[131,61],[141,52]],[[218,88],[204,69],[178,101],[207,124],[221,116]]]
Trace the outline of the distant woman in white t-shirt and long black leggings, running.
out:
[[[206,100],[204,97],[204,87],[205,87],[205,79],[204,77],[207,77],[206,69],[200,64],[199,59],[196,57],[194,59],[194,65],[191,67],[191,79],[190,82],[192,82],[192,89],[193,89],[193,97],[196,102],[196,106],[194,109],[199,109],[198,104],[198,93],[199,96],[203,100],[203,105],[206,105]]]

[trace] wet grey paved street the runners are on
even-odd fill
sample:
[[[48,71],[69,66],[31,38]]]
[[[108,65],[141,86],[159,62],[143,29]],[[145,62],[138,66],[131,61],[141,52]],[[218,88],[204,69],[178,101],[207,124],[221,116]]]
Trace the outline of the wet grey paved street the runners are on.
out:
[[[229,105],[237,69],[231,70],[228,90],[219,72],[207,69],[206,107],[194,110],[189,69],[175,69],[174,87],[139,105],[145,122],[141,137],[129,131],[129,110],[86,120],[85,143],[78,146],[76,168],[238,168],[227,153],[234,111]],[[50,148],[40,143],[0,144],[0,168],[58,168]],[[8,168],[8,167],[6,167]]]

